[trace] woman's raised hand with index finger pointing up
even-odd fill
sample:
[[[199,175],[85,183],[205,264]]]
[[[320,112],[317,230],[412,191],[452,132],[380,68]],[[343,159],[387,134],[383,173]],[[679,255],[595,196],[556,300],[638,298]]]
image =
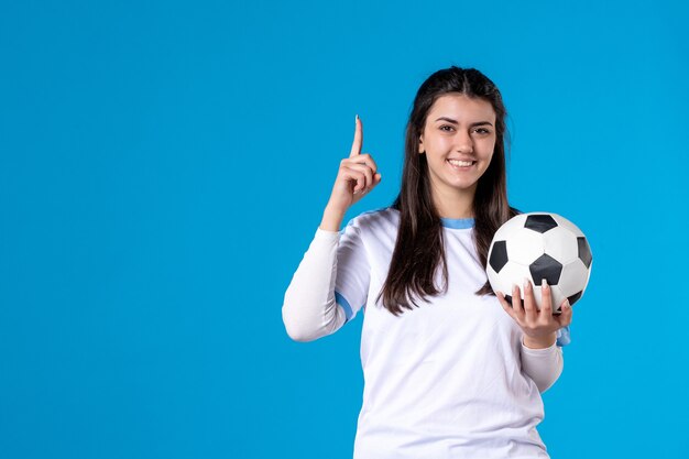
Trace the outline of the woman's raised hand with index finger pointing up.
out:
[[[361,153],[363,144],[363,127],[357,116],[354,120],[354,141],[349,157],[340,162],[327,211],[344,216],[347,209],[357,204],[367,193],[381,183],[378,166],[368,153]]]

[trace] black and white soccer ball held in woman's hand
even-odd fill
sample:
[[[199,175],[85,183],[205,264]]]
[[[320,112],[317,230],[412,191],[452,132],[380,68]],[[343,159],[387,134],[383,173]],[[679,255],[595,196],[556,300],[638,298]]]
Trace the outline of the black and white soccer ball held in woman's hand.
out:
[[[512,304],[512,286],[524,278],[533,283],[540,309],[540,283],[550,286],[553,313],[560,314],[565,298],[577,303],[591,276],[591,248],[586,236],[571,221],[557,214],[520,214],[497,229],[488,252],[488,280],[493,292],[502,292]],[[524,303],[522,303],[524,304]]]

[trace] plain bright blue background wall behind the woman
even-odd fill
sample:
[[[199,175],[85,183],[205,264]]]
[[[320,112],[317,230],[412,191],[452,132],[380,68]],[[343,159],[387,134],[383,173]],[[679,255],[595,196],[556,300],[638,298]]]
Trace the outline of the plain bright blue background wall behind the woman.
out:
[[[362,319],[293,342],[284,291],[354,114],[348,217],[450,65],[503,92],[512,204],[593,249],[549,452],[686,457],[689,11],[571,3],[3,1],[0,457],[351,457]]]

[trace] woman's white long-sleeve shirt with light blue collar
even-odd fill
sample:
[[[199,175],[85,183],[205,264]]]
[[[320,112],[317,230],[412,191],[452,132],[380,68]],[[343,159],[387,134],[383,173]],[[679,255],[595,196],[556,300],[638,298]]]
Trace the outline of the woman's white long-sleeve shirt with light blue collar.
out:
[[[547,458],[536,430],[540,392],[562,371],[560,346],[529,349],[494,296],[473,219],[442,219],[448,292],[395,317],[374,303],[387,274],[398,212],[364,212],[340,232],[317,229],[285,293],[289,337],[331,335],[364,312],[364,397],[354,459]],[[560,346],[558,346],[560,345]]]

